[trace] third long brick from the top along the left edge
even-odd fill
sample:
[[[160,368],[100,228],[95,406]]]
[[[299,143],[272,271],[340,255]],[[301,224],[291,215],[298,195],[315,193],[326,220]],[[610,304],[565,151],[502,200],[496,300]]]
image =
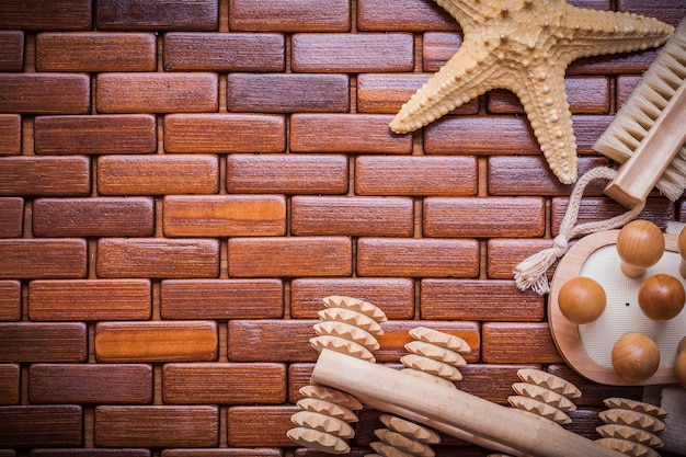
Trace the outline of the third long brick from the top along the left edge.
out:
[[[85,196],[88,157],[7,157],[0,160],[0,196]]]

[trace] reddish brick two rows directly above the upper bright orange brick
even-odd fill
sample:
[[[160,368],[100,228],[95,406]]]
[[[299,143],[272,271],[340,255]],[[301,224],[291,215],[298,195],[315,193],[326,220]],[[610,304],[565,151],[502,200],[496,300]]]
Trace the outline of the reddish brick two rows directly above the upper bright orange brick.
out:
[[[268,114],[170,114],[167,152],[285,152],[286,119]]]

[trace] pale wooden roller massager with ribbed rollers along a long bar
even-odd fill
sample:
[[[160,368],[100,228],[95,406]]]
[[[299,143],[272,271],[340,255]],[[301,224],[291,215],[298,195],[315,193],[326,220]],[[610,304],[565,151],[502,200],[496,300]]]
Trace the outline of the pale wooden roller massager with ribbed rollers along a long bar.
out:
[[[381,334],[384,312],[350,297],[324,298],[318,336],[319,351],[311,386],[301,389],[302,409],[291,418],[287,435],[299,445],[330,454],[350,452],[354,410],[366,404],[382,412],[386,426],[376,431],[375,456],[433,456],[438,431],[516,457],[586,457],[624,454],[560,426],[570,421],[579,390],[561,378],[524,369],[507,408],[459,390],[458,367],[469,346],[459,338],[435,330],[411,331],[403,369],[375,363],[375,336]],[[433,430],[432,430],[433,429]]]

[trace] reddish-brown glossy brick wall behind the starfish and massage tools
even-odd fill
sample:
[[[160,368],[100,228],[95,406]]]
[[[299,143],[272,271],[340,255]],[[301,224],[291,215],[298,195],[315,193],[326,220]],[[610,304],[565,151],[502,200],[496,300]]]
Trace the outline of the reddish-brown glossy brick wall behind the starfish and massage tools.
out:
[[[285,432],[332,294],[387,312],[380,362],[422,320],[470,343],[471,393],[505,403],[522,366],[568,378],[571,429],[595,437],[602,399],[641,391],[575,375],[514,287],[570,193],[517,100],[389,132],[460,41],[430,0],[0,2],[0,456],[315,455]],[[654,56],[569,68],[582,172]],[[620,212],[596,187],[581,218]]]

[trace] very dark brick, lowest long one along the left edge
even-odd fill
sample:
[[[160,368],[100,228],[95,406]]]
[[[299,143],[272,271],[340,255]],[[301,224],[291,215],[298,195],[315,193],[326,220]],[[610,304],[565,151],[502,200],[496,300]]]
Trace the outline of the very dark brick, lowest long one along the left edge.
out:
[[[0,408],[0,446],[81,446],[83,416],[76,405],[15,405]]]

